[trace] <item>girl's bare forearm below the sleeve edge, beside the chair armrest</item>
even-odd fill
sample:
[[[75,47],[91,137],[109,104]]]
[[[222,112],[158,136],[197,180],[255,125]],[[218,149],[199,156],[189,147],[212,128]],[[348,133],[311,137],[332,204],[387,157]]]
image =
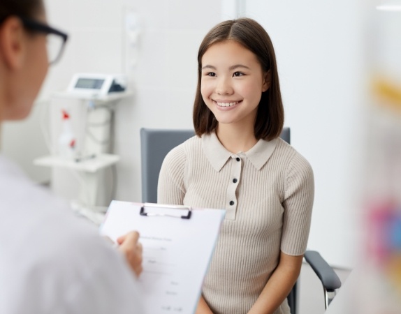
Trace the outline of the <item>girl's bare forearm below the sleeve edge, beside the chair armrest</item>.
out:
[[[248,314],[268,314],[282,304],[296,283],[302,266],[303,255],[280,254],[280,261]],[[201,312],[200,312],[201,313]],[[197,313],[198,314],[198,313]]]

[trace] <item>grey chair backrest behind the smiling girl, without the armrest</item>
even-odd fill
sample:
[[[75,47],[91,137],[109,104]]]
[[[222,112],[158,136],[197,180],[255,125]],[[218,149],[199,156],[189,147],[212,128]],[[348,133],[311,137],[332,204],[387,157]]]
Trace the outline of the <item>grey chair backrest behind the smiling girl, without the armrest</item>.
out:
[[[157,202],[157,182],[164,157],[171,149],[194,135],[194,130],[140,129],[142,202]],[[290,144],[290,128],[283,128],[280,137]],[[298,311],[297,292],[296,283],[287,297],[292,314]]]

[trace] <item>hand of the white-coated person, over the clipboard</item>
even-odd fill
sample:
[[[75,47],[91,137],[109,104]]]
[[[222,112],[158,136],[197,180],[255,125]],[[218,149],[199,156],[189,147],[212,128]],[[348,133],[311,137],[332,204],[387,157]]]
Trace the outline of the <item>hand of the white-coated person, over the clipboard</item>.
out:
[[[126,257],[129,266],[139,276],[142,273],[142,244],[138,242],[139,233],[131,231],[117,239],[118,249]]]

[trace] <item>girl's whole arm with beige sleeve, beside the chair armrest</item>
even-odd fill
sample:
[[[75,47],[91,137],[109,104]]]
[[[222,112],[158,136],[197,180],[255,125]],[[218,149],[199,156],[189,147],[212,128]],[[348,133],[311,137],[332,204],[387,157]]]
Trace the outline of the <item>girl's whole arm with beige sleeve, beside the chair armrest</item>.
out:
[[[314,177],[307,160],[296,154],[286,170],[280,260],[249,314],[274,313],[296,283],[307,246],[314,199]]]

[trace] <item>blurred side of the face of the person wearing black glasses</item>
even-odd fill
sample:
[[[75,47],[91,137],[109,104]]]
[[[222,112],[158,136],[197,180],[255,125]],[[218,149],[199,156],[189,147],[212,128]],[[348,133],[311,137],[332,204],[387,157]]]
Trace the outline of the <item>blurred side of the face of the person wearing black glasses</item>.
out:
[[[46,22],[45,13],[34,17],[38,22]],[[48,73],[48,53],[46,36],[25,29],[21,36],[20,63],[11,73],[10,97],[3,112],[5,120],[24,119],[31,112],[32,105],[38,96],[43,80]]]

